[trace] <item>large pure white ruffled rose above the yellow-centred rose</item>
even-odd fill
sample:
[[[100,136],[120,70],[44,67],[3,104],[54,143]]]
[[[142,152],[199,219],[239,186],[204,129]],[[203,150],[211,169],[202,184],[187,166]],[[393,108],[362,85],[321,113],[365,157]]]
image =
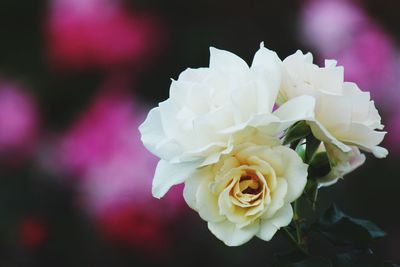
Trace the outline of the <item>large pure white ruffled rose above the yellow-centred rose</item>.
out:
[[[169,99],[152,109],[139,128],[146,148],[161,158],[153,180],[155,197],[232,151],[249,128],[274,136],[314,115],[310,96],[272,112],[282,62],[263,44],[251,67],[227,51],[210,48],[210,54],[208,68],[187,69],[172,81]]]

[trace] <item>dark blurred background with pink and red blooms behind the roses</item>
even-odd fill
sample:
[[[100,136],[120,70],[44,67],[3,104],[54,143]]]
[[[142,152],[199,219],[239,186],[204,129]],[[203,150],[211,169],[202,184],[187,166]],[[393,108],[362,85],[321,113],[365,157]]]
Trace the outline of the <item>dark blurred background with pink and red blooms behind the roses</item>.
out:
[[[0,266],[269,266],[289,243],[228,248],[183,202],[151,197],[157,159],[137,130],[170,78],[207,66],[209,46],[251,62],[261,41],[335,58],[371,91],[389,132],[385,160],[323,189],[388,236],[400,262],[398,0],[2,0]]]

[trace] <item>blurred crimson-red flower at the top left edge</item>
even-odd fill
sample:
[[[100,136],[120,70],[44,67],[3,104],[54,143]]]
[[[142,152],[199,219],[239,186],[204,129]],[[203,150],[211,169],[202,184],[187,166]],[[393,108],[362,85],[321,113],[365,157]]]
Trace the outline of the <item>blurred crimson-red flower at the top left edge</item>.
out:
[[[155,17],[110,0],[51,0],[46,32],[55,67],[78,70],[143,65],[162,39]]]

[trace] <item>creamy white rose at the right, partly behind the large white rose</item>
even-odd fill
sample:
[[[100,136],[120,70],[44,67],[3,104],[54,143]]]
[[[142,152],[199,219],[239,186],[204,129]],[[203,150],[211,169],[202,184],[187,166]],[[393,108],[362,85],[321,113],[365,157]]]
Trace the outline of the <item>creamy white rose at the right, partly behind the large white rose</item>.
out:
[[[315,119],[310,120],[316,138],[330,143],[343,152],[351,146],[372,152],[383,158],[388,154],[378,145],[385,132],[381,117],[369,92],[361,91],[355,83],[344,82],[343,67],[336,61],[325,61],[325,67],[313,64],[310,53],[297,51],[283,61],[283,78],[278,97],[282,104],[299,95],[310,95],[316,99]]]

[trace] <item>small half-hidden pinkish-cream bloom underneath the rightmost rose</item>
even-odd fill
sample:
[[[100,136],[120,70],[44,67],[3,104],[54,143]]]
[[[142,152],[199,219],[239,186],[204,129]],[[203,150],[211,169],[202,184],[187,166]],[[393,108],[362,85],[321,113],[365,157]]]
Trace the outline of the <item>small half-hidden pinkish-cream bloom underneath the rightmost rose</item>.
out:
[[[319,187],[335,184],[340,178],[351,173],[365,162],[365,155],[355,146],[351,146],[349,152],[343,152],[333,145],[325,144],[323,150],[328,155],[331,171],[318,179]]]

